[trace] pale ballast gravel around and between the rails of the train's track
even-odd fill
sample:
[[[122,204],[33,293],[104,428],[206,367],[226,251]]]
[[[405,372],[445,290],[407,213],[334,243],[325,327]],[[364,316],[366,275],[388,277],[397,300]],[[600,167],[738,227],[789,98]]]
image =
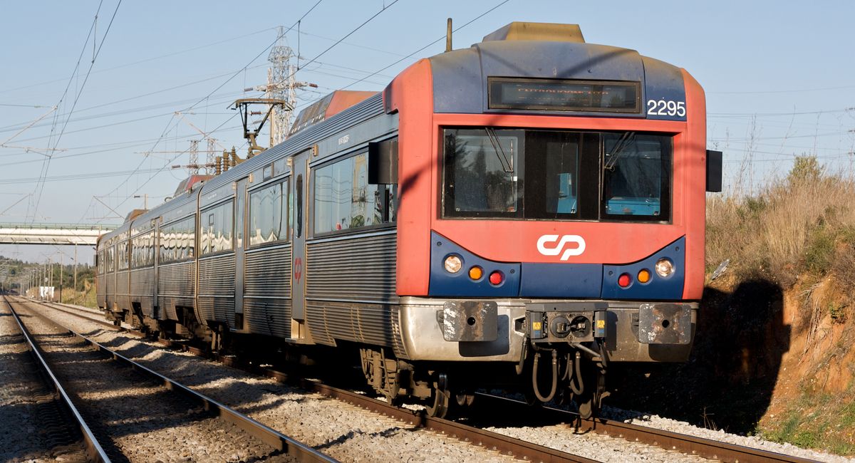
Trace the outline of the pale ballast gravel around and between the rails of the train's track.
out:
[[[47,310],[44,311],[47,313]],[[84,319],[57,311],[50,317],[162,374],[226,403],[241,413],[342,461],[516,461],[432,431],[412,429],[361,408],[253,376],[195,355],[163,349],[156,343],[104,330]],[[606,418],[647,425],[723,442],[764,448],[820,461],[850,461],[788,444],[762,441],[640,413],[606,408]],[[623,413],[623,414],[622,414]],[[510,437],[600,461],[706,461],[638,442],[594,433],[578,434],[568,426],[487,428]]]

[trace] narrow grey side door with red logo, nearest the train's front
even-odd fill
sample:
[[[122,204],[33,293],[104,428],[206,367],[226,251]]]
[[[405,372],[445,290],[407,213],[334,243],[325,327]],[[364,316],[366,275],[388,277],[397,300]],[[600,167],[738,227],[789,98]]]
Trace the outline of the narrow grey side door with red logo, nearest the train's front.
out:
[[[291,337],[306,340],[306,235],[309,228],[309,156],[311,149],[294,155],[292,163],[293,204],[291,261]]]

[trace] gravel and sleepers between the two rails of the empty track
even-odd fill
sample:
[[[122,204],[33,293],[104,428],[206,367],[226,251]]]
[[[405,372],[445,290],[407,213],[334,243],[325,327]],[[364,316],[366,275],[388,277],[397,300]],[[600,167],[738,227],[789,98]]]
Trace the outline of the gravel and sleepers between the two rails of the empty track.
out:
[[[111,459],[294,461],[43,320],[25,323]]]

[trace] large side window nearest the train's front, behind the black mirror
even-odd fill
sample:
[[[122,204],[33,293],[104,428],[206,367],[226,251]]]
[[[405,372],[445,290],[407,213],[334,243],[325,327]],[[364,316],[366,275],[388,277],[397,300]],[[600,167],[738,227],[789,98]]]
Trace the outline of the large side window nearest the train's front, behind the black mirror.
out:
[[[314,233],[383,226],[395,217],[397,185],[369,183],[369,155],[361,153],[315,169]]]

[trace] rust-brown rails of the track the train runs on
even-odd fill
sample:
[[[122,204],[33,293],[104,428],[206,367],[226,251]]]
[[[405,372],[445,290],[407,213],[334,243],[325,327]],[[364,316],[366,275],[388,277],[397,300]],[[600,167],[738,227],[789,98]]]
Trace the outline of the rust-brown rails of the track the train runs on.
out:
[[[85,315],[81,318],[89,319]],[[108,322],[104,325],[115,326]],[[354,393],[349,390],[339,389],[320,381],[299,379],[294,380],[286,372],[279,372],[271,368],[243,363],[230,356],[209,355],[202,349],[192,348],[185,343],[176,343],[168,340],[158,340],[164,346],[172,349],[181,349],[195,355],[204,356],[211,360],[217,360],[228,366],[235,366],[249,372],[262,374],[274,378],[280,382],[297,383],[301,387],[315,391],[323,396],[333,397],[345,401],[351,405],[370,410],[374,413],[397,419],[398,421],[413,428],[425,428],[445,434],[473,445],[490,448],[501,454],[510,455],[517,459],[529,461],[593,461],[585,457],[569,454],[554,448],[544,447],[533,442],[508,437],[497,432],[486,431],[476,426],[466,425],[446,419],[436,419],[426,416],[408,408],[394,407],[385,401],[379,401],[368,396]],[[501,409],[505,416],[527,417],[531,416],[533,409],[523,402],[512,401],[498,396],[480,395],[481,409]],[[484,403],[486,402],[486,404]],[[806,462],[811,460],[802,459],[787,454],[777,454],[758,448],[745,447],[727,442],[717,442],[702,437],[693,437],[671,431],[663,431],[641,425],[632,425],[609,419],[581,419],[577,414],[550,407],[536,409],[537,417],[533,421],[540,425],[563,425],[575,433],[598,433],[605,436],[617,437],[630,442],[642,442],[648,445],[676,450],[683,454],[695,455],[703,458],[721,461],[763,461],[763,462]]]

